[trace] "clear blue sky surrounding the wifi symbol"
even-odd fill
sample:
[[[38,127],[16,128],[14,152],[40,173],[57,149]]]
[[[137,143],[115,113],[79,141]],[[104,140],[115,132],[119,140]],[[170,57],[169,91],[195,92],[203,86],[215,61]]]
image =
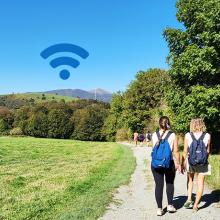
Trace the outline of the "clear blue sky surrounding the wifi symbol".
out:
[[[176,21],[175,0],[2,0],[0,94],[61,88],[125,90],[139,70],[167,69],[162,32]],[[40,52],[56,43],[86,49],[62,80]]]

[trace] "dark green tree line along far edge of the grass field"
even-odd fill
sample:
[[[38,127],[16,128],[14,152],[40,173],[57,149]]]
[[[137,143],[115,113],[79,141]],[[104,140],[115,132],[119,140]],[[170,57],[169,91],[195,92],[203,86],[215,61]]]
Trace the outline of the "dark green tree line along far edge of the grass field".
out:
[[[1,135],[105,140],[102,129],[109,112],[108,103],[95,100],[34,103],[10,96],[2,96],[0,100]]]

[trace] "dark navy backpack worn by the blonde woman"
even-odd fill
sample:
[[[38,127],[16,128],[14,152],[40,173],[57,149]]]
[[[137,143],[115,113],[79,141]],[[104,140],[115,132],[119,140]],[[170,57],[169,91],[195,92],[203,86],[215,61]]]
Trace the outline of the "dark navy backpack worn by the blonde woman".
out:
[[[207,164],[208,152],[203,141],[206,133],[203,132],[198,140],[193,133],[190,133],[190,135],[192,137],[192,143],[189,146],[189,164],[192,166]]]

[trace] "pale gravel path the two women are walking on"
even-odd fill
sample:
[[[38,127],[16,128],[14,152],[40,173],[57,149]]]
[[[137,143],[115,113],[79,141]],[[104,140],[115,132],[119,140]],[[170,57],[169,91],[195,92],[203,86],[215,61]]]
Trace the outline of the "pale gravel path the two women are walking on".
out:
[[[193,213],[192,209],[183,207],[186,201],[186,175],[177,173],[175,179],[174,206],[176,213],[165,213],[162,217],[156,216],[156,201],[154,198],[154,180],[150,170],[151,148],[133,147],[136,157],[136,169],[128,186],[121,186],[114,194],[114,202],[110,204],[106,213],[99,220],[146,220],[146,219],[205,219],[220,220],[219,190],[211,191],[205,188],[201,209]],[[163,206],[167,200],[164,188]]]

